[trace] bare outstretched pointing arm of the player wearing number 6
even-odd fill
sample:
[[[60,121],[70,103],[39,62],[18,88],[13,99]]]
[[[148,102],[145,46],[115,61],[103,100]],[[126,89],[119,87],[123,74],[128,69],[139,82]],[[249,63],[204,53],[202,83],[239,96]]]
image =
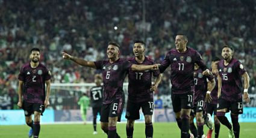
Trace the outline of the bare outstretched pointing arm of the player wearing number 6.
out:
[[[86,61],[84,59],[73,57],[65,52],[62,52],[62,58],[68,59],[70,61],[75,62],[76,64],[82,65],[84,67],[96,68],[96,65],[92,61]]]

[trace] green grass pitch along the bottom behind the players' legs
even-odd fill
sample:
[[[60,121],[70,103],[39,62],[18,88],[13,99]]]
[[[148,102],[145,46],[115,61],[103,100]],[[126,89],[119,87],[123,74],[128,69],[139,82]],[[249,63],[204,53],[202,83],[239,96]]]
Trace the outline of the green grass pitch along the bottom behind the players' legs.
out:
[[[126,137],[126,124],[117,124],[117,133],[121,137]],[[1,138],[25,138],[28,137],[29,127],[27,125],[0,125]],[[97,124],[98,134],[93,135],[92,124],[61,124],[61,125],[41,125],[40,138],[106,138],[102,133],[100,124]],[[240,123],[240,137],[256,137],[256,123]],[[207,127],[204,126],[204,132],[207,133]],[[214,134],[213,134],[214,136]],[[134,125],[134,137],[145,137],[145,125],[137,123]],[[176,138],[180,137],[180,130],[176,123],[154,123],[155,138]],[[228,128],[220,126],[220,138],[228,137]]]

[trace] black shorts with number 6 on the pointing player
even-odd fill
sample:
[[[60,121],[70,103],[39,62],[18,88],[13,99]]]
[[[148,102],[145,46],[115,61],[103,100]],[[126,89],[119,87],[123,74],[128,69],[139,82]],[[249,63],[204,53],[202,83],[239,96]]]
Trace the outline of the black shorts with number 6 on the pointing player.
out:
[[[116,99],[110,104],[102,104],[101,107],[101,122],[108,122],[108,118],[118,116],[117,121],[121,121],[123,106],[125,105],[124,98]]]

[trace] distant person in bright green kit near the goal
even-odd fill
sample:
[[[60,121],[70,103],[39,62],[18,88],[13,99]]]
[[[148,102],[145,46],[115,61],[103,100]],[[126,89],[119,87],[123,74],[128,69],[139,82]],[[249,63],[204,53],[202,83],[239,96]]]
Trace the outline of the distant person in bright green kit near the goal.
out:
[[[87,109],[90,104],[90,99],[87,97],[86,92],[83,93],[83,96],[78,100],[77,104],[80,105],[81,116],[84,124],[86,124]]]

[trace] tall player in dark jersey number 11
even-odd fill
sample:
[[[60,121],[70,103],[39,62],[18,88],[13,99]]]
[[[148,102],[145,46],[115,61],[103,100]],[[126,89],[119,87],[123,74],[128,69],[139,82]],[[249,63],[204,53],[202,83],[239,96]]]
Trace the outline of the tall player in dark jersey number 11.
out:
[[[166,53],[166,57],[159,69],[163,73],[170,65],[170,82],[172,83],[172,106],[175,112],[181,137],[187,138],[189,134],[189,115],[193,100],[193,72],[195,63],[203,70],[203,75],[208,75],[210,70],[202,62],[201,55],[196,50],[187,47],[186,35],[176,35],[176,49]]]

